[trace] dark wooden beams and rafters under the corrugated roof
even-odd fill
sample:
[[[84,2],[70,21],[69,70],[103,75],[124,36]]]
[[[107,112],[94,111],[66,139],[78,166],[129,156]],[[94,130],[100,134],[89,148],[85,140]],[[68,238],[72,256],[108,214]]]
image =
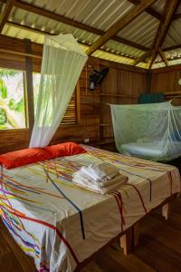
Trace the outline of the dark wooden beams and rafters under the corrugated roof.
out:
[[[0,7],[2,7],[2,13],[0,15],[0,34],[3,33],[5,25],[31,31],[36,34],[52,34],[52,32],[43,30],[43,28],[34,27],[28,24],[21,24],[21,22],[14,22],[12,19],[10,20],[10,15],[15,7],[34,15],[40,15],[44,18],[70,25],[71,27],[88,32],[90,34],[98,35],[96,40],[91,44],[86,42],[81,43],[79,41],[81,44],[88,46],[88,55],[92,55],[92,53],[96,52],[97,50],[109,52],[109,50],[104,48],[104,45],[111,40],[116,43],[125,44],[131,48],[138,49],[140,52],[142,52],[138,57],[131,58],[129,55],[126,56],[131,59],[132,65],[138,65],[138,63],[146,63],[148,66],[147,68],[151,69],[157,58],[157,54],[159,54],[162,62],[167,66],[169,65],[169,60],[167,59],[166,53],[168,51],[181,48],[181,44],[175,44],[168,46],[167,48],[163,48],[162,46],[167,36],[170,24],[173,21],[179,20],[181,18],[181,14],[176,13],[178,5],[180,4],[180,0],[165,0],[165,5],[162,12],[157,11],[155,6],[153,7],[153,5],[157,4],[159,1],[160,0],[128,0],[127,2],[132,4],[128,12],[123,14],[120,18],[118,18],[118,20],[114,22],[114,24],[111,24],[110,27],[104,31],[92,25],[83,24],[80,21],[75,20],[74,18],[72,19],[66,15],[57,14],[56,11],[52,12],[47,8],[33,5],[32,3],[29,4],[27,3],[28,1],[23,2],[20,0],[0,0]],[[61,4],[62,1],[59,2]],[[143,13],[147,13],[149,16],[152,16],[158,21],[157,33],[155,34],[151,48],[145,46],[145,44],[138,44],[135,41],[131,41],[118,35],[122,29],[124,29],[126,26],[128,27],[131,22],[134,22],[134,20]],[[114,50],[112,50],[110,53],[114,54]]]

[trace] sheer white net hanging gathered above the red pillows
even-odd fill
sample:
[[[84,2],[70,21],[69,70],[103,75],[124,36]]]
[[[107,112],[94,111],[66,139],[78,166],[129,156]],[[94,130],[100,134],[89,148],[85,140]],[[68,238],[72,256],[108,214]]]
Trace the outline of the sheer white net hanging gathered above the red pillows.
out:
[[[30,148],[44,147],[52,140],[87,59],[71,34],[45,37]]]

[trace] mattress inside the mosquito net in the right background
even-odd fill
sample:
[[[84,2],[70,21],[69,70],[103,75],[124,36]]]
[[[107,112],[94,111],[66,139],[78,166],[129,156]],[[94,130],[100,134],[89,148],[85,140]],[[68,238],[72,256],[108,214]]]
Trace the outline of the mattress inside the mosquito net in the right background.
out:
[[[121,151],[148,160],[173,160],[181,156],[181,142],[130,142],[122,144]]]

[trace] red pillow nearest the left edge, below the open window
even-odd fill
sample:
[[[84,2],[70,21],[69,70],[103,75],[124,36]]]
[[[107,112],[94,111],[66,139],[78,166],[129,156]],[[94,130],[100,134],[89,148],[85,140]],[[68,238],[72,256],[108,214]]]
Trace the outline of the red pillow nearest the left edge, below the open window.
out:
[[[48,159],[51,159],[50,153],[39,148],[13,151],[0,155],[0,163],[7,169]]]

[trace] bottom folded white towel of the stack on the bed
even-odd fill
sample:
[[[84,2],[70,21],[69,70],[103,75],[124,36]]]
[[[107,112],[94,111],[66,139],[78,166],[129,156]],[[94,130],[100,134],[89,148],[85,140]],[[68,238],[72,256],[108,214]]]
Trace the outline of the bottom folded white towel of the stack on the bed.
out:
[[[92,181],[85,174],[82,174],[81,171],[76,172],[73,175],[73,179],[72,179],[72,181],[76,185],[78,185],[84,189],[89,189],[91,191],[94,191],[94,192],[97,192],[100,194],[106,194],[110,190],[119,189],[119,187],[121,185],[125,184],[127,180],[128,180],[128,177],[118,174],[112,180],[104,180],[101,182],[95,182],[95,181]]]

